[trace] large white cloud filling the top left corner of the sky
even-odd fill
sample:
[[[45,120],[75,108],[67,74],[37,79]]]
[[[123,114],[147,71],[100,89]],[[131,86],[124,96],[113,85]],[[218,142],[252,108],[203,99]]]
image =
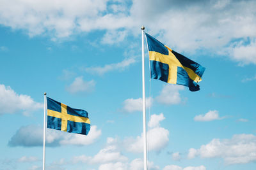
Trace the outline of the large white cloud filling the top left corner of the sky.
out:
[[[56,38],[66,38],[79,29],[81,18],[98,17],[106,10],[107,1],[3,1],[0,24],[13,29],[25,29],[29,36],[50,32]]]

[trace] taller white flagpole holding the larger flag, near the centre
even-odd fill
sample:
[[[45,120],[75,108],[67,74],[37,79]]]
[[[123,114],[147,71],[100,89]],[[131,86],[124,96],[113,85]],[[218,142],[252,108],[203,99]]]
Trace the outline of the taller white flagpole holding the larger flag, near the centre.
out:
[[[142,39],[142,106],[143,106],[143,146],[144,146],[144,170],[147,170],[147,131],[146,131],[146,100],[145,100],[145,66],[144,66],[144,29],[141,26]]]

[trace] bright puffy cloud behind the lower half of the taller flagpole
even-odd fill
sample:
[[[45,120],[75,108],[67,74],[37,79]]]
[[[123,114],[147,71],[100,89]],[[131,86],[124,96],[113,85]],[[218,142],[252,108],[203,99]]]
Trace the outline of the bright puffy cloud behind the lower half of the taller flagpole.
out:
[[[161,115],[152,115],[150,120],[152,122],[152,118],[154,117],[162,117]],[[147,131],[147,142],[148,142],[148,151],[156,151],[160,152],[163,148],[168,145],[169,141],[169,131],[164,129],[163,127],[159,127],[159,122],[162,121],[164,118],[158,118],[154,122],[154,124],[150,124],[150,129]],[[134,138],[127,138],[124,141],[125,148],[129,152],[143,152],[143,134],[141,136],[137,136],[136,139]]]

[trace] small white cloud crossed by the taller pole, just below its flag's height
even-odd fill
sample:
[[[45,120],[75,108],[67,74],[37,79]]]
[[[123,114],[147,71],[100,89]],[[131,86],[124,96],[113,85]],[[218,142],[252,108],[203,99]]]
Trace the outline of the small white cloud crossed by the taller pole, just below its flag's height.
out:
[[[146,108],[149,108],[152,106],[153,98],[147,97],[146,98]],[[126,99],[123,103],[124,107],[123,110],[127,112],[133,112],[133,111],[142,111],[142,98],[138,99]]]

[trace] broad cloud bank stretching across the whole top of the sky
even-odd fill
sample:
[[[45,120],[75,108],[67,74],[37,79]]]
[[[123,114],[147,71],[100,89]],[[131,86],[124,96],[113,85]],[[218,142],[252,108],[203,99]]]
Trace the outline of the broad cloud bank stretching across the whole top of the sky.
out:
[[[46,34],[56,40],[104,30],[101,42],[113,44],[124,41],[127,34],[138,35],[143,23],[150,34],[177,51],[218,49],[241,65],[256,64],[253,0],[3,0],[1,4],[0,24],[25,30],[29,36]]]

